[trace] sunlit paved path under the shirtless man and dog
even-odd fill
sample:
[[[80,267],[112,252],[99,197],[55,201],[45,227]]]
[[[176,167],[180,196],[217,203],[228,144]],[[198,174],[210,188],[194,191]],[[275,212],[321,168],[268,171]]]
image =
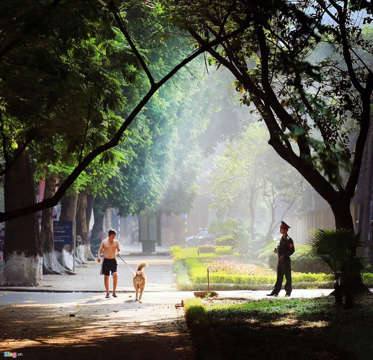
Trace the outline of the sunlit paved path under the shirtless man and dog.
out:
[[[139,254],[140,255],[140,254]],[[136,270],[147,261],[142,302],[134,300],[132,271],[118,258],[118,298],[105,299],[100,265],[90,261],[76,275],[46,275],[42,286],[0,288],[0,352],[22,358],[137,360],[194,359],[183,308],[193,298],[178,292],[171,256],[123,256]],[[110,290],[112,280],[110,278]],[[294,290],[293,297],[328,295],[331,290]],[[218,298],[261,299],[268,291],[219,291]],[[285,292],[284,292],[285,295]]]

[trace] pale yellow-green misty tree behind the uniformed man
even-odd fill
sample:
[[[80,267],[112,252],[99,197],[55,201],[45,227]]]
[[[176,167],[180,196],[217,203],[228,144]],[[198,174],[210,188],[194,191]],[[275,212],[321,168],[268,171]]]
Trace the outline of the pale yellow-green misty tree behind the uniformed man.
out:
[[[291,206],[302,190],[300,176],[265,143],[268,131],[263,124],[250,124],[241,136],[227,143],[214,160],[213,206],[218,214],[247,219],[251,242],[255,229],[274,231],[275,199]]]

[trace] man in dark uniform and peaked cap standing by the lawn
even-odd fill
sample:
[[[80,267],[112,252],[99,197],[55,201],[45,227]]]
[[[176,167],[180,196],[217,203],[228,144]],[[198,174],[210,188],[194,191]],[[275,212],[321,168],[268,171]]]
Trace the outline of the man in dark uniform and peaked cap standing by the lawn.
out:
[[[292,285],[291,285],[291,260],[290,255],[294,254],[294,243],[293,239],[288,235],[288,230],[290,229],[290,226],[286,224],[285,222],[281,222],[280,226],[280,232],[283,235],[281,237],[281,240],[277,246],[277,248],[274,249],[274,253],[278,256],[278,262],[277,262],[277,280],[274,284],[273,290],[270,294],[267,294],[267,296],[278,296],[279,292],[281,291],[281,287],[283,285],[284,275],[286,279],[285,283],[285,296],[290,296],[292,291]]]

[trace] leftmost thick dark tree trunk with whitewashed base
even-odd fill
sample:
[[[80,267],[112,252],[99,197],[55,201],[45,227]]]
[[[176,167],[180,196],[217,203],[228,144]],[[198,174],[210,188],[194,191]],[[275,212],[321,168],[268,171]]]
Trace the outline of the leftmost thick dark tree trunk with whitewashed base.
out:
[[[15,156],[17,153],[15,154]],[[29,153],[22,151],[5,174],[5,211],[36,203]],[[6,222],[2,286],[37,286],[42,279],[37,213]]]

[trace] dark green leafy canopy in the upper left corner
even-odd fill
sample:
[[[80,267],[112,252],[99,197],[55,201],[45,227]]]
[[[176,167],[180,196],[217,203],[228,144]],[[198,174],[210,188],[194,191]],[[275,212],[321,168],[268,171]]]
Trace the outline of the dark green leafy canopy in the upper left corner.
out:
[[[73,165],[122,121],[113,111],[123,106],[121,83],[134,79],[135,68],[126,67],[133,61],[129,49],[118,51],[123,38],[113,31],[107,8],[82,1],[54,6],[1,5],[0,49],[15,44],[0,62],[1,149],[9,156],[14,143],[32,142],[41,163]],[[24,29],[30,30],[27,40],[18,46],[12,40]]]

